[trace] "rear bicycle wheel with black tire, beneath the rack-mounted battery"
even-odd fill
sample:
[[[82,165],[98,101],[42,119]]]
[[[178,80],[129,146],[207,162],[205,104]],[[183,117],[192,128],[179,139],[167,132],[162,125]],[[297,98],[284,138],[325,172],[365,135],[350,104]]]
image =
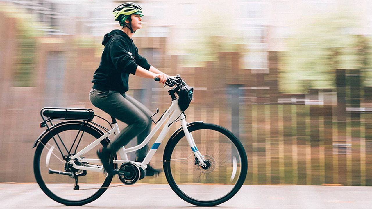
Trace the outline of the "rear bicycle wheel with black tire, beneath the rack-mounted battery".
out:
[[[71,151],[75,147],[77,149],[88,146],[103,133],[89,125],[82,126],[81,123],[60,125],[51,133],[53,135],[46,134],[41,139],[35,152],[35,178],[41,189],[51,199],[65,205],[84,205],[97,199],[106,191],[113,176],[74,168],[72,160],[78,166],[97,168],[102,164],[81,163],[76,159],[70,159],[68,151],[67,154],[63,154],[57,142],[62,143],[64,147],[67,145]],[[55,140],[57,137],[61,141]],[[101,146],[107,146],[105,140],[101,143],[103,143]],[[63,159],[58,157],[56,150],[61,152]],[[98,160],[95,150],[90,150],[81,157]]]

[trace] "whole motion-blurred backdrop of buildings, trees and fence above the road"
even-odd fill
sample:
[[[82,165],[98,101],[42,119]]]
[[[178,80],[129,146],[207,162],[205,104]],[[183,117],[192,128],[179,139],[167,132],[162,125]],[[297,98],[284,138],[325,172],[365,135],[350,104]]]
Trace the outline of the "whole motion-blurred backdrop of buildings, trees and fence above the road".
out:
[[[0,182],[35,182],[42,107],[109,118],[88,93],[103,35],[120,29],[112,10],[124,2],[0,0]],[[135,2],[145,15],[133,38],[140,54],[195,87],[188,122],[240,138],[246,184],[372,186],[372,1]],[[131,75],[129,84],[151,111],[169,107],[157,82]]]

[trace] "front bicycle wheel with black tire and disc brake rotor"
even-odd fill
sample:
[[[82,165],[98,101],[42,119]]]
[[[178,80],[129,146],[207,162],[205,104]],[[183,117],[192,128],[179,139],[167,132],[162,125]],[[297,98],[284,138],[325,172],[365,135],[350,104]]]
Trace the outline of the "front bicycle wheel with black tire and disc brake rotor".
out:
[[[222,126],[199,123],[189,126],[188,130],[209,167],[203,169],[196,164],[185,133],[180,131],[164,149],[163,167],[170,187],[193,205],[214,206],[226,202],[238,192],[247,176],[243,145]]]

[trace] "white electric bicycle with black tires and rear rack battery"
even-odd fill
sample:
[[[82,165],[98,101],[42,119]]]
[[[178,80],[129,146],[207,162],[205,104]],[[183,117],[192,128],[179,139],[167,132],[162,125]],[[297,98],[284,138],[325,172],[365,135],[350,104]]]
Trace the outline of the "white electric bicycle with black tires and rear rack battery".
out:
[[[172,99],[169,109],[156,122],[152,118],[158,109],[150,117],[156,125],[141,144],[122,147],[118,152],[120,160],[113,155],[115,174],[124,184],[143,179],[148,163],[167,132],[180,121],[181,127],[164,148],[162,162],[167,182],[180,198],[193,205],[214,206],[226,202],[238,192],[247,175],[244,147],[222,126],[204,121],[186,122],[184,111],[192,99],[193,88],[179,75],[169,78],[165,86],[173,87],[168,91]],[[37,183],[47,196],[64,205],[84,205],[96,200],[108,189],[115,174],[103,172],[95,151],[109,144],[109,136],[119,134],[116,119],[111,116],[110,123],[95,115],[92,109],[60,107],[44,107],[41,117],[40,127],[47,126],[47,129],[32,147],[36,147],[33,168]],[[94,117],[105,120],[111,129],[93,122]],[[67,121],[53,125],[52,120],[56,119]],[[145,159],[129,160],[127,154],[144,147],[164,123]]]

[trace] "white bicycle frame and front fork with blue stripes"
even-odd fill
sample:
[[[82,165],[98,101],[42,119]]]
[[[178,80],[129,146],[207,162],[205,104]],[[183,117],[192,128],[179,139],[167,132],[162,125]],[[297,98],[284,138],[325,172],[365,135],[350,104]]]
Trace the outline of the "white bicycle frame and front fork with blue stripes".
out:
[[[185,132],[185,136],[186,136],[187,142],[189,142],[190,148],[191,148],[193,154],[195,155],[195,157],[198,158],[199,162],[201,162],[201,163],[199,163],[199,165],[205,166],[205,164],[204,164],[204,157],[199,152],[198,148],[196,147],[195,141],[192,138],[192,135],[189,133],[189,131],[187,129],[187,122],[186,122],[185,115],[181,112],[180,107],[179,107],[179,105],[178,105],[177,102],[178,102],[177,99],[172,101],[169,109],[164,113],[163,117],[155,125],[155,127],[153,128],[153,130],[151,130],[150,134],[145,138],[145,140],[141,144],[139,144],[137,146],[134,146],[134,147],[130,147],[130,148],[124,148],[124,147],[122,147],[121,149],[119,149],[118,152],[119,152],[119,155],[121,157],[121,160],[113,160],[113,163],[118,164],[118,165],[121,165],[123,163],[131,162],[131,163],[134,163],[134,164],[138,165],[142,169],[146,169],[147,168],[147,164],[150,162],[151,158],[153,158],[153,156],[154,156],[157,148],[159,147],[159,145],[161,144],[161,142],[164,140],[164,138],[167,135],[167,133],[168,133],[169,129],[171,128],[171,126],[174,124],[174,122],[177,119],[179,119],[180,117],[183,117],[182,119],[179,119],[179,120],[181,121],[182,129]],[[169,117],[169,119],[167,120],[168,117]],[[167,122],[166,122],[166,120],[167,120]],[[158,129],[164,124],[164,122],[166,122],[166,125],[161,130],[158,138],[154,142],[154,144],[151,147],[151,149],[148,151],[145,159],[142,162],[130,161],[128,159],[128,155],[127,154],[129,152],[134,152],[134,151],[137,151],[138,149],[141,149],[142,147],[144,147],[150,141],[150,139],[154,136],[154,134],[158,131]],[[83,156],[84,154],[86,154],[87,152],[89,152],[91,149],[93,149],[94,147],[96,147],[98,144],[100,144],[100,142],[103,139],[105,139],[106,137],[109,137],[109,136],[111,136],[114,133],[116,134],[116,136],[118,136],[119,132],[120,131],[119,131],[118,124],[115,123],[113,129],[111,129],[110,131],[106,132],[106,134],[104,134],[100,138],[96,139],[94,142],[92,142],[87,147],[81,149],[75,155],[71,156],[71,159],[77,159],[81,163],[101,164],[101,161],[99,159],[81,158],[81,156]],[[177,159],[177,160],[181,160],[181,159]],[[84,166],[82,166],[82,165],[76,165],[74,160],[71,160],[70,163],[73,164],[73,167],[74,168],[77,168],[79,170],[82,169],[82,170],[87,170],[87,171],[103,172],[102,165],[92,165],[92,164],[86,164]]]

